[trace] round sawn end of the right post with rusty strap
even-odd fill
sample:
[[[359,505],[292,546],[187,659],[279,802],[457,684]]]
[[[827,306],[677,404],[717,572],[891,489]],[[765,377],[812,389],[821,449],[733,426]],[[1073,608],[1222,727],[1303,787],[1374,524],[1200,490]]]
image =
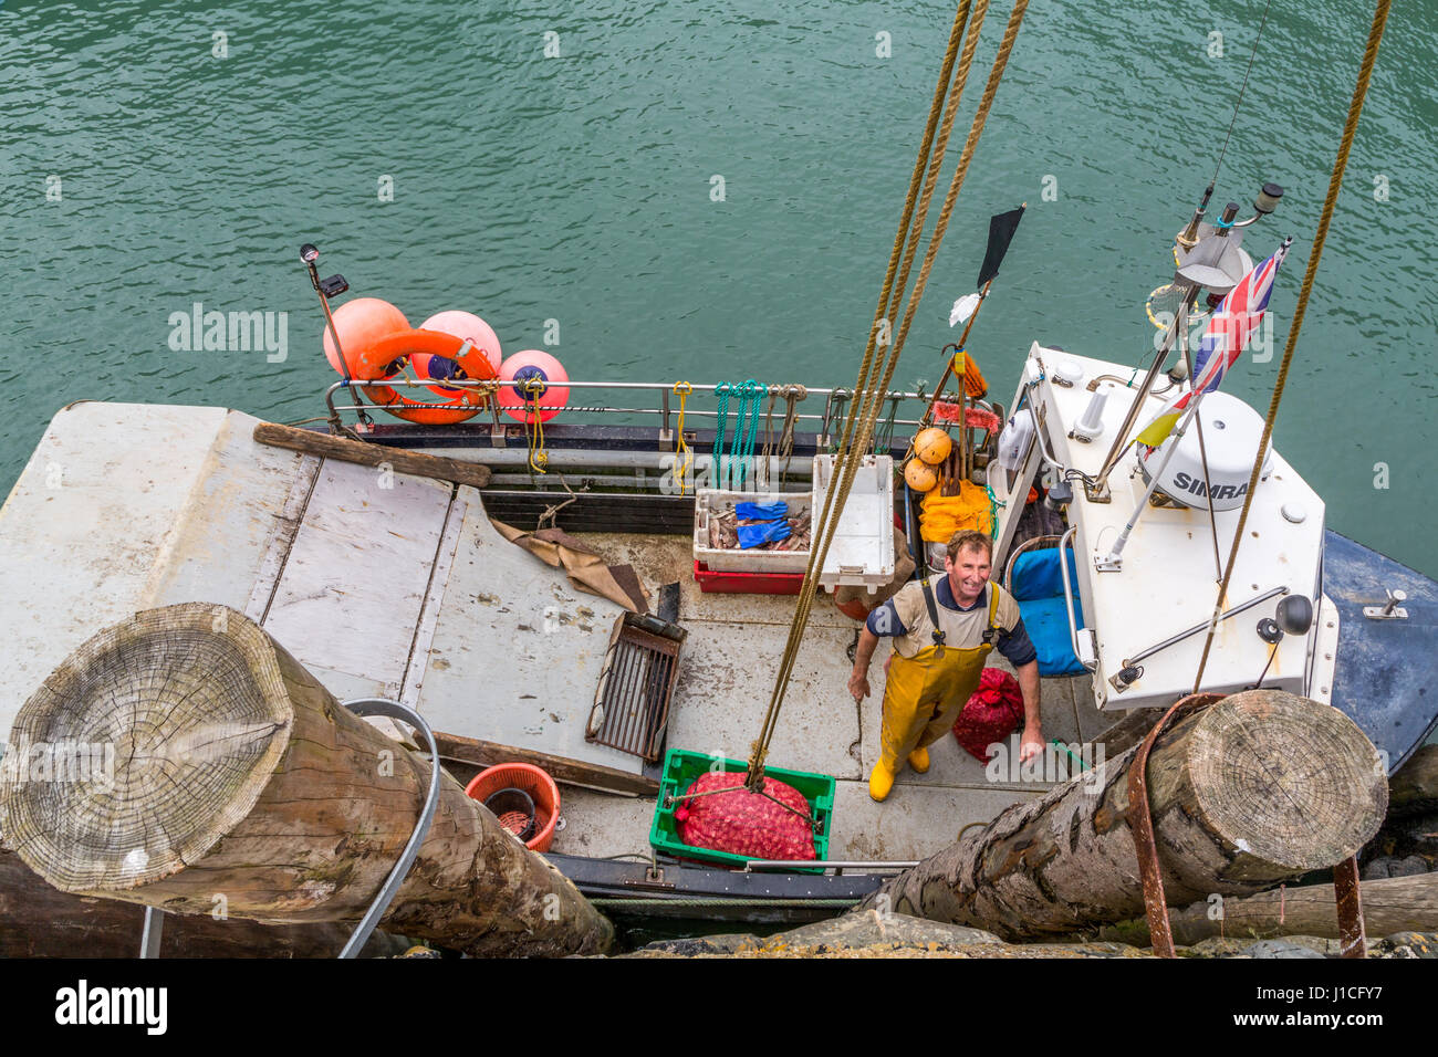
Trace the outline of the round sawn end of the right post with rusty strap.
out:
[[[1212,833],[1291,873],[1356,853],[1388,805],[1382,761],[1357,725],[1278,690],[1235,693],[1208,709],[1189,742],[1188,775]]]

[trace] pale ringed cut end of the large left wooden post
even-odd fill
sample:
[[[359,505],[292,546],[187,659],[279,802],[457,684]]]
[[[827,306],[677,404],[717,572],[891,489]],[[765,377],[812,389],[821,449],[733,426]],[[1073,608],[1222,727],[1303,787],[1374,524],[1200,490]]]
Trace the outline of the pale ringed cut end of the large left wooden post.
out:
[[[0,761],[0,830],[62,892],[167,877],[250,811],[292,719],[275,647],[242,614],[203,603],[137,614],[20,709]]]

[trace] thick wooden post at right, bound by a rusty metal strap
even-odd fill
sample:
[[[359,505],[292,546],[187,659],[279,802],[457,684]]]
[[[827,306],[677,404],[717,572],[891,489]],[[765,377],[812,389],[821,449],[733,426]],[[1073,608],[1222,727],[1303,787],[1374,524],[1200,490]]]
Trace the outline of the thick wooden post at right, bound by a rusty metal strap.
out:
[[[1015,804],[889,880],[864,907],[1044,938],[1143,913],[1127,824],[1135,751]],[[1173,723],[1149,756],[1165,894],[1188,906],[1332,867],[1379,828],[1388,784],[1337,709],[1248,690]]]

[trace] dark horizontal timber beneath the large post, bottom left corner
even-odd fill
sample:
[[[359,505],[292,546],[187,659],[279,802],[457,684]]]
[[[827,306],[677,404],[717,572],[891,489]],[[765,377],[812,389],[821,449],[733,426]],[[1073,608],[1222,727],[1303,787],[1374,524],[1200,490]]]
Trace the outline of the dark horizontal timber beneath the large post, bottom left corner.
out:
[[[137,958],[145,909],[115,899],[69,896],[46,884],[12,851],[0,851],[0,958]],[[351,925],[260,925],[243,918],[167,915],[161,958],[334,958]],[[374,932],[361,958],[393,958],[403,936]]]

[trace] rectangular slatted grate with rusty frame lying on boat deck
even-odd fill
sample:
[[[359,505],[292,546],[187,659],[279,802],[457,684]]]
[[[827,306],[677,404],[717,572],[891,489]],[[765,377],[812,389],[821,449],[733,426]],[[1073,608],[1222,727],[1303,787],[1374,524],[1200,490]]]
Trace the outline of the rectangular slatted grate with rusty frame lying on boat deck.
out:
[[[585,741],[659,761],[686,634],[650,616],[626,613],[614,621]]]

